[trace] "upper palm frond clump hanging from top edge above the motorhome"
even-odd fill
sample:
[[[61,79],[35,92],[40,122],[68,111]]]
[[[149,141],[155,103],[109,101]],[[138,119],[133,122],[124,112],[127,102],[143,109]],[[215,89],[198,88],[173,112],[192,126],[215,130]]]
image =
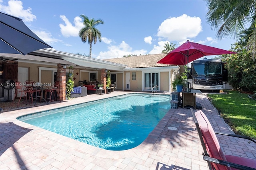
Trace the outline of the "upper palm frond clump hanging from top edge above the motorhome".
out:
[[[216,37],[222,39],[231,35],[235,38],[250,21],[255,0],[207,0],[207,5],[206,21],[213,30],[218,29]]]

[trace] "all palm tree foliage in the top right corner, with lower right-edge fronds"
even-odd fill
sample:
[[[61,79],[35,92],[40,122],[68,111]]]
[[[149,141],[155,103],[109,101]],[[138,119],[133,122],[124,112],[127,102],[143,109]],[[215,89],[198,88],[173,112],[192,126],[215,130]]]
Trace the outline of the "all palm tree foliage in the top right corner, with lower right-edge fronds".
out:
[[[217,38],[228,35],[238,38],[240,45],[247,45],[256,55],[256,0],[205,0],[209,11],[206,21],[213,30],[218,29]],[[249,24],[249,28],[244,27]]]

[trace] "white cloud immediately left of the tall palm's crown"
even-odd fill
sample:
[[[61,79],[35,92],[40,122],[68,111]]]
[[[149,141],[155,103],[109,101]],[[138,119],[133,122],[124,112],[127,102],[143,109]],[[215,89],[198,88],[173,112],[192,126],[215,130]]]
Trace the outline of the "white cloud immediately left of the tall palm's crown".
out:
[[[72,23],[70,23],[70,21],[66,18],[66,16],[60,16],[60,18],[65,22],[65,25],[60,23],[60,31],[61,34],[64,37],[78,37],[78,32],[80,31],[80,29],[82,27],[84,27],[84,24],[82,22],[82,18],[80,17],[76,17],[74,18],[74,26],[72,25]]]

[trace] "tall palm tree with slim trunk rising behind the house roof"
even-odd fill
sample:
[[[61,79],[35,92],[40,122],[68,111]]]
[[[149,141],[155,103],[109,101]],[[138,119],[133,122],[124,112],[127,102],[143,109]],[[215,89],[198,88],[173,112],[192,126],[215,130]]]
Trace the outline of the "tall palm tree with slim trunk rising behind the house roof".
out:
[[[97,39],[101,42],[101,33],[96,28],[99,24],[104,24],[104,21],[101,19],[94,20],[93,18],[89,20],[89,18],[85,15],[80,15],[80,17],[84,20],[85,27],[82,27],[79,31],[79,37],[83,41],[83,43],[86,43],[88,40],[88,43],[90,44],[90,54],[89,57],[92,57],[92,42],[96,44]]]

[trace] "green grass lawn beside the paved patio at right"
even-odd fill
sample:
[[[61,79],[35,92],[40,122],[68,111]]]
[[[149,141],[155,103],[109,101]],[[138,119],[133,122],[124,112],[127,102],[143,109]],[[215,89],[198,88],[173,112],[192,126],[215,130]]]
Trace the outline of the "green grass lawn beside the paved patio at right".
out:
[[[236,90],[224,92],[228,94],[208,94],[208,97],[235,133],[256,139],[256,101]]]

